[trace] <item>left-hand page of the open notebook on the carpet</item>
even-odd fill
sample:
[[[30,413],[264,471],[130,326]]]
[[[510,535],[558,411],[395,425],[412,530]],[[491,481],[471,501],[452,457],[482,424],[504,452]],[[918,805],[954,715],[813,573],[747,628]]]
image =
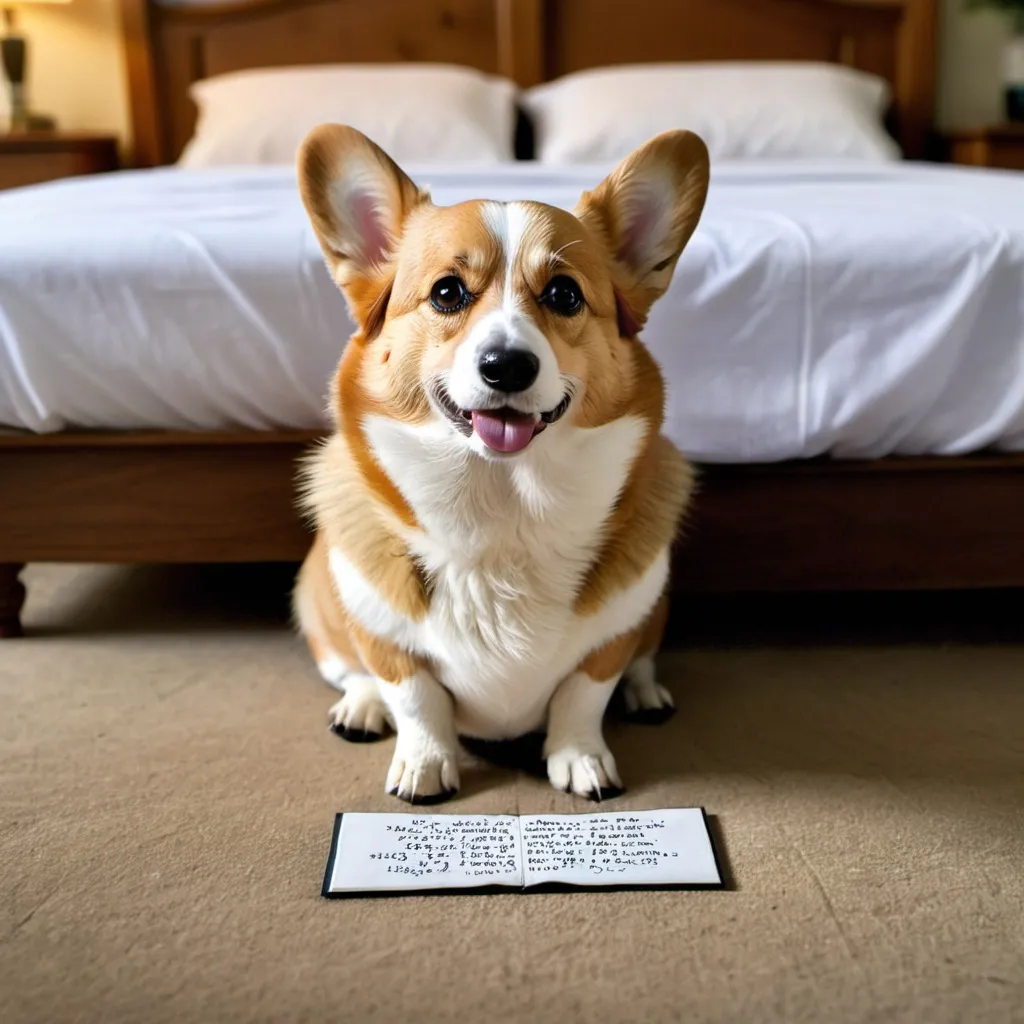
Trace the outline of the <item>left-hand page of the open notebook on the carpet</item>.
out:
[[[511,814],[344,814],[328,893],[522,885]]]

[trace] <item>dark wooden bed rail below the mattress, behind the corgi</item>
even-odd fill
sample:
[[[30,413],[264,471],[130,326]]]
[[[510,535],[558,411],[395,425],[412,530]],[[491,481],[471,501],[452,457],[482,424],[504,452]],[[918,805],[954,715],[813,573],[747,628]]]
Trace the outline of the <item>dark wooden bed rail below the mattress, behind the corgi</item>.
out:
[[[0,437],[0,634],[29,561],[299,561],[314,432]],[[684,593],[1024,586],[1024,456],[706,466]],[[2,620],[6,617],[6,626]]]

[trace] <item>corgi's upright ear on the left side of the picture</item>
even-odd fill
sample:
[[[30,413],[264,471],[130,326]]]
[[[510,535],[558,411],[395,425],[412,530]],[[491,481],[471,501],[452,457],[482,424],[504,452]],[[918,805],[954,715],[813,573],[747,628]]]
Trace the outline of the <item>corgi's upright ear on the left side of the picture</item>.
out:
[[[332,276],[365,333],[383,316],[392,258],[426,193],[380,146],[347,125],[321,125],[298,155],[299,191]]]

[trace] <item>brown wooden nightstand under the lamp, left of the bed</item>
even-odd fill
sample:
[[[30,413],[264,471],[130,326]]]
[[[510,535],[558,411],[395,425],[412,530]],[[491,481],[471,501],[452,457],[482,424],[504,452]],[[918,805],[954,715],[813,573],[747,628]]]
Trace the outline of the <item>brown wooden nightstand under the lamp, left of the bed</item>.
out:
[[[118,142],[88,132],[0,134],[0,188],[116,171]]]

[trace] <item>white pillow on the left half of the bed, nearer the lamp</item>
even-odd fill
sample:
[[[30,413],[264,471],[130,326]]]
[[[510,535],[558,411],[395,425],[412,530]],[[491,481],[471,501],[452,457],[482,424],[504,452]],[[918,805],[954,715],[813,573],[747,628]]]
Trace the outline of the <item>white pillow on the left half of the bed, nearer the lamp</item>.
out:
[[[358,128],[398,163],[515,157],[516,87],[447,65],[325,65],[233,72],[197,82],[182,167],[290,164],[324,122]]]

